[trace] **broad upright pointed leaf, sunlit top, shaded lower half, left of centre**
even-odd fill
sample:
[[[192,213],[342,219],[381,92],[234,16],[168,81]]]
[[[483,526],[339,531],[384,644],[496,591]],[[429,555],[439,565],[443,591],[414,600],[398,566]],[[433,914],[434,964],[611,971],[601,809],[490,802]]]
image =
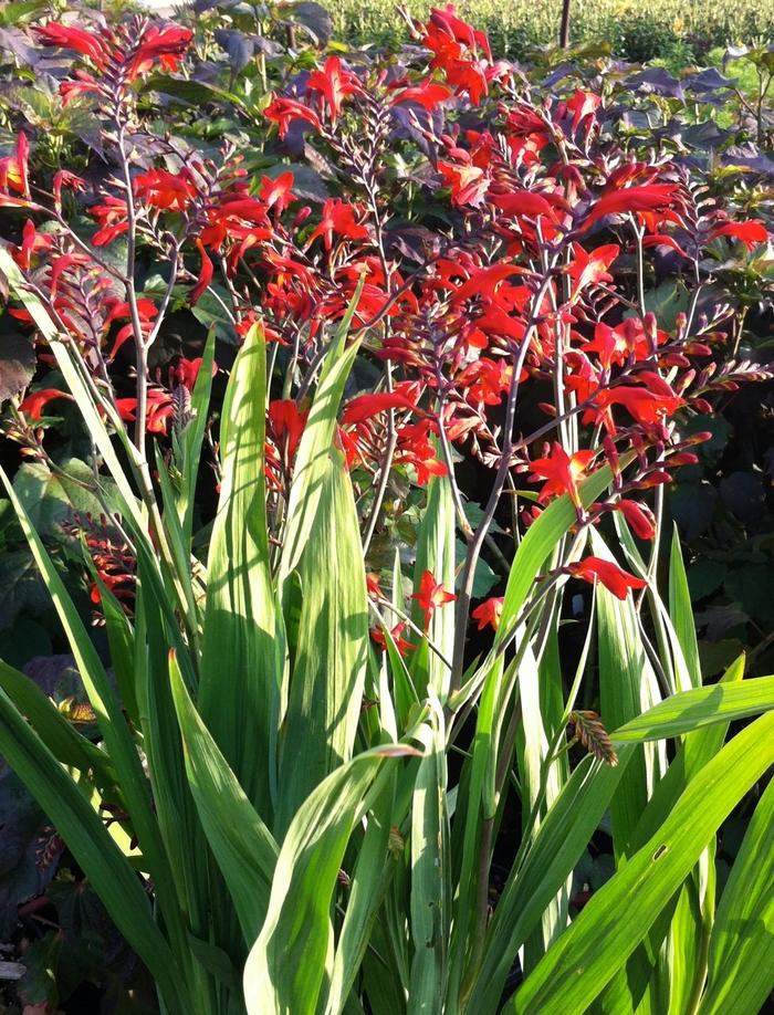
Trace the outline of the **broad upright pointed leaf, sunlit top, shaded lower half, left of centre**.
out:
[[[269,564],[265,346],[251,328],[221,416],[222,475],[207,559],[198,709],[259,813],[271,810],[283,638]]]

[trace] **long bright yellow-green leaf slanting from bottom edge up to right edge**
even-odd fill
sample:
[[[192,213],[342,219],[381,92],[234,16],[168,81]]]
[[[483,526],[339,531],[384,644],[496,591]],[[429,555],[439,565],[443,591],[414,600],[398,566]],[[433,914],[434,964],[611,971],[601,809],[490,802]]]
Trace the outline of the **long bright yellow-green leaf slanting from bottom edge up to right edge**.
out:
[[[506,1011],[585,1011],[645,938],[722,822],[773,762],[770,713],[739,733],[691,779],[656,835],[592,897]]]

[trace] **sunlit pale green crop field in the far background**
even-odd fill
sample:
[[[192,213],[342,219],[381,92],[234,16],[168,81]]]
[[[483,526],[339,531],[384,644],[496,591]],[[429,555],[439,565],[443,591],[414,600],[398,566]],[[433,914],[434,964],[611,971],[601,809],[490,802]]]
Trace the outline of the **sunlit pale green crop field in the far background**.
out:
[[[337,0],[325,4],[337,38],[353,45],[395,44],[406,25],[395,0]],[[425,18],[430,0],[408,0],[406,8]],[[533,45],[558,38],[562,0],[460,0],[460,17],[483,29],[492,51],[517,57]],[[772,0],[573,0],[574,43],[609,42],[630,60],[669,56],[676,50],[699,56],[712,46],[770,40],[774,33]]]

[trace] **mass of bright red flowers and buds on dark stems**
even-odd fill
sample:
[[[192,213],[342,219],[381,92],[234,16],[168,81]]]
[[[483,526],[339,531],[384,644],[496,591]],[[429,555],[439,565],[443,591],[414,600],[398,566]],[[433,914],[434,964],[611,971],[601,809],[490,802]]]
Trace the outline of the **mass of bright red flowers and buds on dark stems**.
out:
[[[603,95],[534,96],[451,6],[414,28],[422,49],[408,65],[332,55],[265,104],[278,153],[304,150],[313,165],[335,167],[323,197],[283,165],[254,175],[231,144],[212,159],[143,123],[133,86],[154,69],[177,71],[187,30],[147,19],[40,28],[40,44],[77,55],[61,94],[96,101],[115,172],[95,184],[60,170],[50,192],[35,187],[20,133],[0,159],[0,206],[29,214],[12,254],[140,444],[189,418],[201,360],[154,370],[148,359],[171,308],[194,313],[216,300],[234,335],[261,321],[286,378],[266,416],[278,525],[308,395],[349,310],[370,380],[346,400],[336,440],[366,547],[390,477],[415,488],[441,475],[454,483],[460,453],[493,470],[495,501],[520,477],[542,483],[524,525],[566,494],[578,526],[615,512],[650,540],[648,491],[694,462],[702,439],[683,436],[681,420],[755,372],[717,369],[730,307],[698,313],[694,299],[670,326],[648,311],[647,258],[668,251],[701,286],[712,244],[750,253],[768,242],[767,229],[698,200],[684,161],[613,140]],[[405,179],[396,158],[411,167]],[[91,218],[91,243],[70,227],[64,195]],[[107,255],[127,240],[166,265],[163,290],[138,293],[137,265]],[[117,377],[127,353],[130,395]],[[62,397],[36,388],[17,416],[40,421]],[[605,465],[608,495],[588,504],[584,481]],[[459,511],[459,491],[457,502]],[[644,585],[596,557],[561,573],[621,597]],[[433,583],[421,592],[426,617],[436,594],[452,595]],[[463,589],[466,607],[469,596]],[[494,627],[501,606],[490,599],[473,618]]]

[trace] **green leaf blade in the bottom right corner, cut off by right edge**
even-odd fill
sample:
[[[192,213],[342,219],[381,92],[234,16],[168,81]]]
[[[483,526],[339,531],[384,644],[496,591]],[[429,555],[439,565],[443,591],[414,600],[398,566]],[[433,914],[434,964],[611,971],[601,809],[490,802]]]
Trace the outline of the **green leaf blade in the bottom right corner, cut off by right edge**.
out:
[[[774,782],[761,797],[725,882],[710,938],[699,1015],[757,1015],[774,988]]]

